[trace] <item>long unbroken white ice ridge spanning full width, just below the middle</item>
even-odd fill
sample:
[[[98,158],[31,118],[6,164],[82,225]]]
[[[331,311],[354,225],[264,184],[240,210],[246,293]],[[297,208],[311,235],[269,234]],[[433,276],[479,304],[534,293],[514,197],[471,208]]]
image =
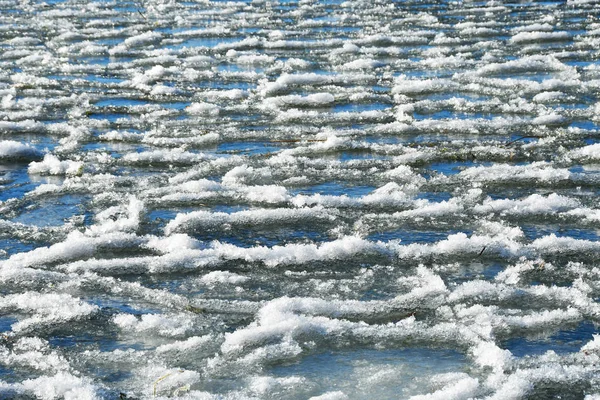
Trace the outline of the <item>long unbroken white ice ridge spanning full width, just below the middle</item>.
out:
[[[135,222],[133,224],[135,226]],[[86,234],[75,231],[64,242],[13,255],[0,263],[3,280],[19,279],[19,270],[22,268],[56,264],[58,265],[54,269],[65,272],[95,271],[118,274],[175,272],[214,266],[227,260],[259,262],[269,267],[280,267],[313,261],[347,260],[359,255],[422,260],[432,256],[480,255],[484,251],[487,254],[509,258],[562,253],[596,254],[600,251],[600,246],[595,241],[557,237],[555,234],[528,242],[519,228],[504,227],[497,223],[483,224],[479,232],[470,236],[465,233],[452,234],[447,239],[432,244],[403,245],[400,240],[382,242],[370,241],[358,236],[345,236],[320,244],[250,248],[219,241],[202,244],[185,234],[175,234],[165,238],[137,236],[126,232],[130,226],[129,220],[109,220],[104,224],[92,226]],[[131,248],[145,248],[161,255],[117,259],[94,257],[99,251]]]

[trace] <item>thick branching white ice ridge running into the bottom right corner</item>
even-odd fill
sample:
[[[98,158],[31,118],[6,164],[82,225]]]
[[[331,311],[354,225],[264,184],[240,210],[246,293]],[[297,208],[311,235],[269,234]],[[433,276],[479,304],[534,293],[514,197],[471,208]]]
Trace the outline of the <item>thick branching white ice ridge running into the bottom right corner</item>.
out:
[[[331,336],[337,338],[336,340],[340,340],[340,337],[347,340],[347,337],[351,336],[358,341],[368,340],[367,338],[374,336],[380,342],[388,340],[392,342],[397,340],[403,342],[407,340],[432,340],[434,342],[441,340],[447,342],[449,338],[452,338],[452,340],[457,341],[458,346],[466,346],[470,349],[468,354],[473,357],[476,364],[480,365],[481,368],[491,368],[488,370],[490,372],[486,378],[481,376],[470,377],[464,374],[461,379],[456,379],[457,377],[453,376],[454,379],[446,379],[446,383],[441,384],[444,382],[443,377],[434,377],[432,382],[437,381],[438,388],[441,386],[441,389],[430,395],[415,398],[448,398],[453,393],[464,393],[464,395],[476,397],[504,398],[508,396],[509,398],[521,398],[530,393],[535,384],[543,380],[549,379],[555,382],[575,384],[583,382],[597,373],[597,366],[594,365],[595,356],[588,358],[591,355],[589,349],[593,348],[595,342],[584,346],[582,352],[574,357],[561,358],[554,355],[553,352],[549,352],[547,355],[540,357],[539,362],[548,362],[545,358],[548,358],[548,360],[554,358],[553,361],[556,364],[533,368],[531,368],[531,365],[535,364],[534,359],[528,361],[529,366],[526,366],[526,364],[521,365],[509,351],[502,350],[493,343],[495,335],[505,329],[523,329],[525,327],[527,327],[526,329],[544,329],[543,327],[549,326],[548,324],[560,325],[566,320],[580,319],[581,315],[573,308],[567,308],[566,312],[558,309],[554,312],[542,311],[521,317],[515,317],[514,315],[501,317],[496,314],[495,307],[465,307],[459,303],[452,308],[447,306],[440,308],[439,312],[445,315],[443,319],[446,322],[436,326],[429,326],[423,324],[423,322],[415,321],[414,316],[406,317],[400,322],[377,326],[370,326],[364,322],[355,323],[346,319],[355,312],[369,315],[373,312],[381,314],[384,310],[391,311],[389,307],[394,303],[396,307],[402,309],[406,307],[406,303],[403,303],[403,301],[411,298],[408,303],[411,304],[410,309],[418,315],[419,309],[439,307],[440,304],[444,303],[443,298],[445,296],[448,296],[446,301],[450,303],[454,303],[460,298],[453,296],[457,293],[456,290],[450,291],[441,281],[433,285],[432,278],[435,275],[431,275],[430,272],[423,269],[419,273],[427,282],[427,290],[424,291],[425,287],[420,288],[418,287],[419,284],[413,281],[417,283],[415,289],[407,295],[385,302],[383,309],[381,308],[382,304],[378,302],[366,303],[362,307],[368,304],[367,308],[361,309],[361,305],[356,303],[338,304],[317,299],[278,299],[266,305],[259,312],[255,324],[250,325],[243,331],[226,336],[222,350],[239,353],[245,347],[252,349],[261,346],[261,343],[272,343],[274,337],[278,338],[285,346],[289,346],[290,350],[297,346],[298,342],[296,340],[302,338],[300,343],[310,343],[310,338],[314,335]],[[486,285],[484,282],[481,282],[481,284]],[[459,287],[458,290],[460,289],[462,287]],[[483,290],[488,292],[490,288]],[[463,297],[462,301],[468,298],[476,299],[477,296],[478,293],[471,292],[467,297]],[[534,296],[537,296],[537,294]],[[419,306],[416,306],[416,304],[419,304]],[[348,308],[346,309],[346,307]],[[350,311],[350,314],[347,310]],[[487,325],[487,327],[483,328],[482,325]],[[436,339],[437,335],[441,335],[443,339]],[[268,346],[272,347],[273,345]],[[250,351],[251,354],[257,353],[256,350],[246,351]],[[569,360],[569,358],[572,359]],[[566,365],[561,365],[560,362],[565,362]],[[458,381],[462,384],[452,384]],[[521,382],[521,384],[515,388],[512,385],[516,381]]]

